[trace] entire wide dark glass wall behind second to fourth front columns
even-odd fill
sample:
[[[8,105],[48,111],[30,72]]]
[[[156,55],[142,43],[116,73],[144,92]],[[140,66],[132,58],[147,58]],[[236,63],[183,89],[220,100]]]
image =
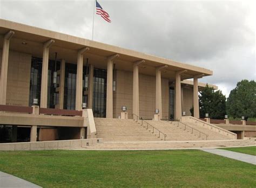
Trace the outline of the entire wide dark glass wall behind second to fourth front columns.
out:
[[[57,71],[60,69],[60,62],[57,62]],[[55,61],[49,60],[48,69],[48,108],[55,108],[59,102],[59,93],[56,87],[59,86],[59,75],[57,76],[57,84],[53,84],[53,72],[55,72]],[[83,102],[87,103],[88,95],[88,78],[89,67],[83,67]],[[64,83],[64,109],[76,109],[76,76],[77,65],[65,64],[65,83]],[[106,78],[107,71],[105,69],[94,68],[93,70],[93,98],[92,110],[95,117],[106,117]],[[33,57],[31,60],[30,75],[30,96],[29,105],[32,106],[33,99],[38,99],[40,105],[41,96],[41,79],[42,79],[42,58]],[[82,104],[81,104],[82,105]]]

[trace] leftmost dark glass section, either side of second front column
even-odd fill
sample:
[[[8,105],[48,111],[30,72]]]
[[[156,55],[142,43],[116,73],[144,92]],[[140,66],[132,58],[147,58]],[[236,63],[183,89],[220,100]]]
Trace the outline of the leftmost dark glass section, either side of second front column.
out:
[[[33,99],[38,99],[40,105],[41,97],[41,79],[42,79],[42,58],[32,57],[31,59],[31,72],[30,72],[30,93],[29,93],[29,106],[33,105]],[[56,71],[60,68],[60,62],[56,63]],[[55,72],[55,61],[49,60],[48,66],[48,99],[47,107],[55,108],[58,104],[58,93],[53,84],[53,72]]]

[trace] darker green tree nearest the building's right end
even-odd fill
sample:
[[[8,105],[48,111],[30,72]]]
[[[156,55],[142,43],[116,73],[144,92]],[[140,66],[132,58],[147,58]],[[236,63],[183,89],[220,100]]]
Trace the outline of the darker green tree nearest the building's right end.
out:
[[[193,115],[193,107],[190,109]],[[226,114],[226,97],[221,90],[214,92],[213,87],[206,87],[199,92],[199,116],[204,118],[208,113],[211,119],[224,119]]]

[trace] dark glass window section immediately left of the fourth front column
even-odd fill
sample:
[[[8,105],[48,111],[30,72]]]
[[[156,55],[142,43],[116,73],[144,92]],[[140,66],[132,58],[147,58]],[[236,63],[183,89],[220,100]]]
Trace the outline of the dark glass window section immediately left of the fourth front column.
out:
[[[106,117],[106,78],[105,69],[94,69],[92,110],[95,117]]]

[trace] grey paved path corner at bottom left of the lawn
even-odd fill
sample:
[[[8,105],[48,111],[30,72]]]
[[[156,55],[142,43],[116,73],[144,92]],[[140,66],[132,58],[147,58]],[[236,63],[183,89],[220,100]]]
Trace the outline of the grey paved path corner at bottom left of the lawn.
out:
[[[0,171],[0,187],[33,187],[40,188],[36,184],[30,183],[24,179],[18,178],[16,176],[9,175]]]

